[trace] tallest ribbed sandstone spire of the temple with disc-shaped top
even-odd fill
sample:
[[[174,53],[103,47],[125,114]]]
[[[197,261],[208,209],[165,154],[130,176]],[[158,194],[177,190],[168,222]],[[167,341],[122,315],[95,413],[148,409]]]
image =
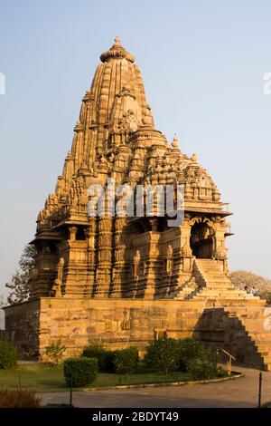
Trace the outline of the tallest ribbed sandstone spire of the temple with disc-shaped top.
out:
[[[101,54],[102,63],[82,100],[72,148],[58,181],[56,192],[61,196],[67,197],[72,176],[82,164],[90,172],[130,132],[143,122],[153,123],[141,73],[134,60],[118,37]]]

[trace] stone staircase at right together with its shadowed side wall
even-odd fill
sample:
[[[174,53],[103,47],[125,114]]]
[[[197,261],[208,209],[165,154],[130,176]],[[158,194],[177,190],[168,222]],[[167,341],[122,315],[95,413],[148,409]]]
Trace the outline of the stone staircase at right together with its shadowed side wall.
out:
[[[211,341],[210,332],[223,329],[221,333],[227,333],[224,347],[241,363],[271,371],[271,320],[269,326],[266,323],[271,308],[266,308],[265,300],[235,287],[218,261],[195,259],[192,278],[169,298],[204,301],[202,318],[209,315],[210,322],[203,319],[199,325],[202,339]],[[211,343],[219,346],[218,341]]]

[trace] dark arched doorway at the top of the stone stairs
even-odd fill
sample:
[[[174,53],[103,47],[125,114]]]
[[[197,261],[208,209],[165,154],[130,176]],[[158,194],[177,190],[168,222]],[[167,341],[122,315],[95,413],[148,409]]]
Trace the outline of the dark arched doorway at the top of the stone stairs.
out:
[[[206,222],[197,222],[192,226],[190,246],[192,255],[197,258],[213,257],[213,232]]]

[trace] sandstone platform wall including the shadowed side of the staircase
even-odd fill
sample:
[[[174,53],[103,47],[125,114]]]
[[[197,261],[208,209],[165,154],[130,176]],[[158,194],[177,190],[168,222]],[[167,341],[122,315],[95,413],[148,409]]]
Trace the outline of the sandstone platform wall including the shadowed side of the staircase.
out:
[[[61,339],[65,356],[77,355],[89,340],[109,349],[135,345],[140,353],[157,336],[195,336],[225,348],[238,363],[262,367],[263,360],[237,317],[204,302],[142,299],[44,297],[5,308],[6,339],[23,358],[46,361],[45,347]]]

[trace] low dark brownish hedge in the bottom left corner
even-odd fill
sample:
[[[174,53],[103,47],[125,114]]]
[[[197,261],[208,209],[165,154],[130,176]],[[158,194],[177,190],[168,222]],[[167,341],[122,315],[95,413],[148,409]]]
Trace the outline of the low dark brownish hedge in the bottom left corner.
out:
[[[38,408],[41,399],[33,391],[0,391],[0,408]]]

